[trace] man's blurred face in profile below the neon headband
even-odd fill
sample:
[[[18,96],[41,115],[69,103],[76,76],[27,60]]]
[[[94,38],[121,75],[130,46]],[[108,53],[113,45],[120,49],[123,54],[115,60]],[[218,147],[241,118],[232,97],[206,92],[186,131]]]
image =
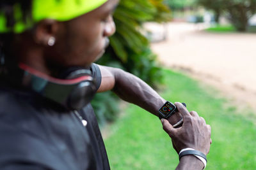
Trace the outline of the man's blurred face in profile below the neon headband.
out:
[[[54,65],[89,66],[99,59],[115,32],[113,11],[118,0],[109,0],[96,10],[63,23],[56,36],[56,45],[47,51],[47,60]]]

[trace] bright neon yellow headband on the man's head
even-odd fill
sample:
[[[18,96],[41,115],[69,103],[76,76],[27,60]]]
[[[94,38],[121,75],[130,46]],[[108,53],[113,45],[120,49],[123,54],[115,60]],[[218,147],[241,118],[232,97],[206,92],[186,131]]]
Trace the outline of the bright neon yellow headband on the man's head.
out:
[[[6,18],[3,11],[0,11],[0,33],[15,32],[21,33],[30,28],[34,23],[51,18],[58,21],[67,21],[88,13],[108,0],[33,0],[32,21],[24,23],[22,20],[22,11],[20,4],[15,4],[13,29],[6,27]]]

